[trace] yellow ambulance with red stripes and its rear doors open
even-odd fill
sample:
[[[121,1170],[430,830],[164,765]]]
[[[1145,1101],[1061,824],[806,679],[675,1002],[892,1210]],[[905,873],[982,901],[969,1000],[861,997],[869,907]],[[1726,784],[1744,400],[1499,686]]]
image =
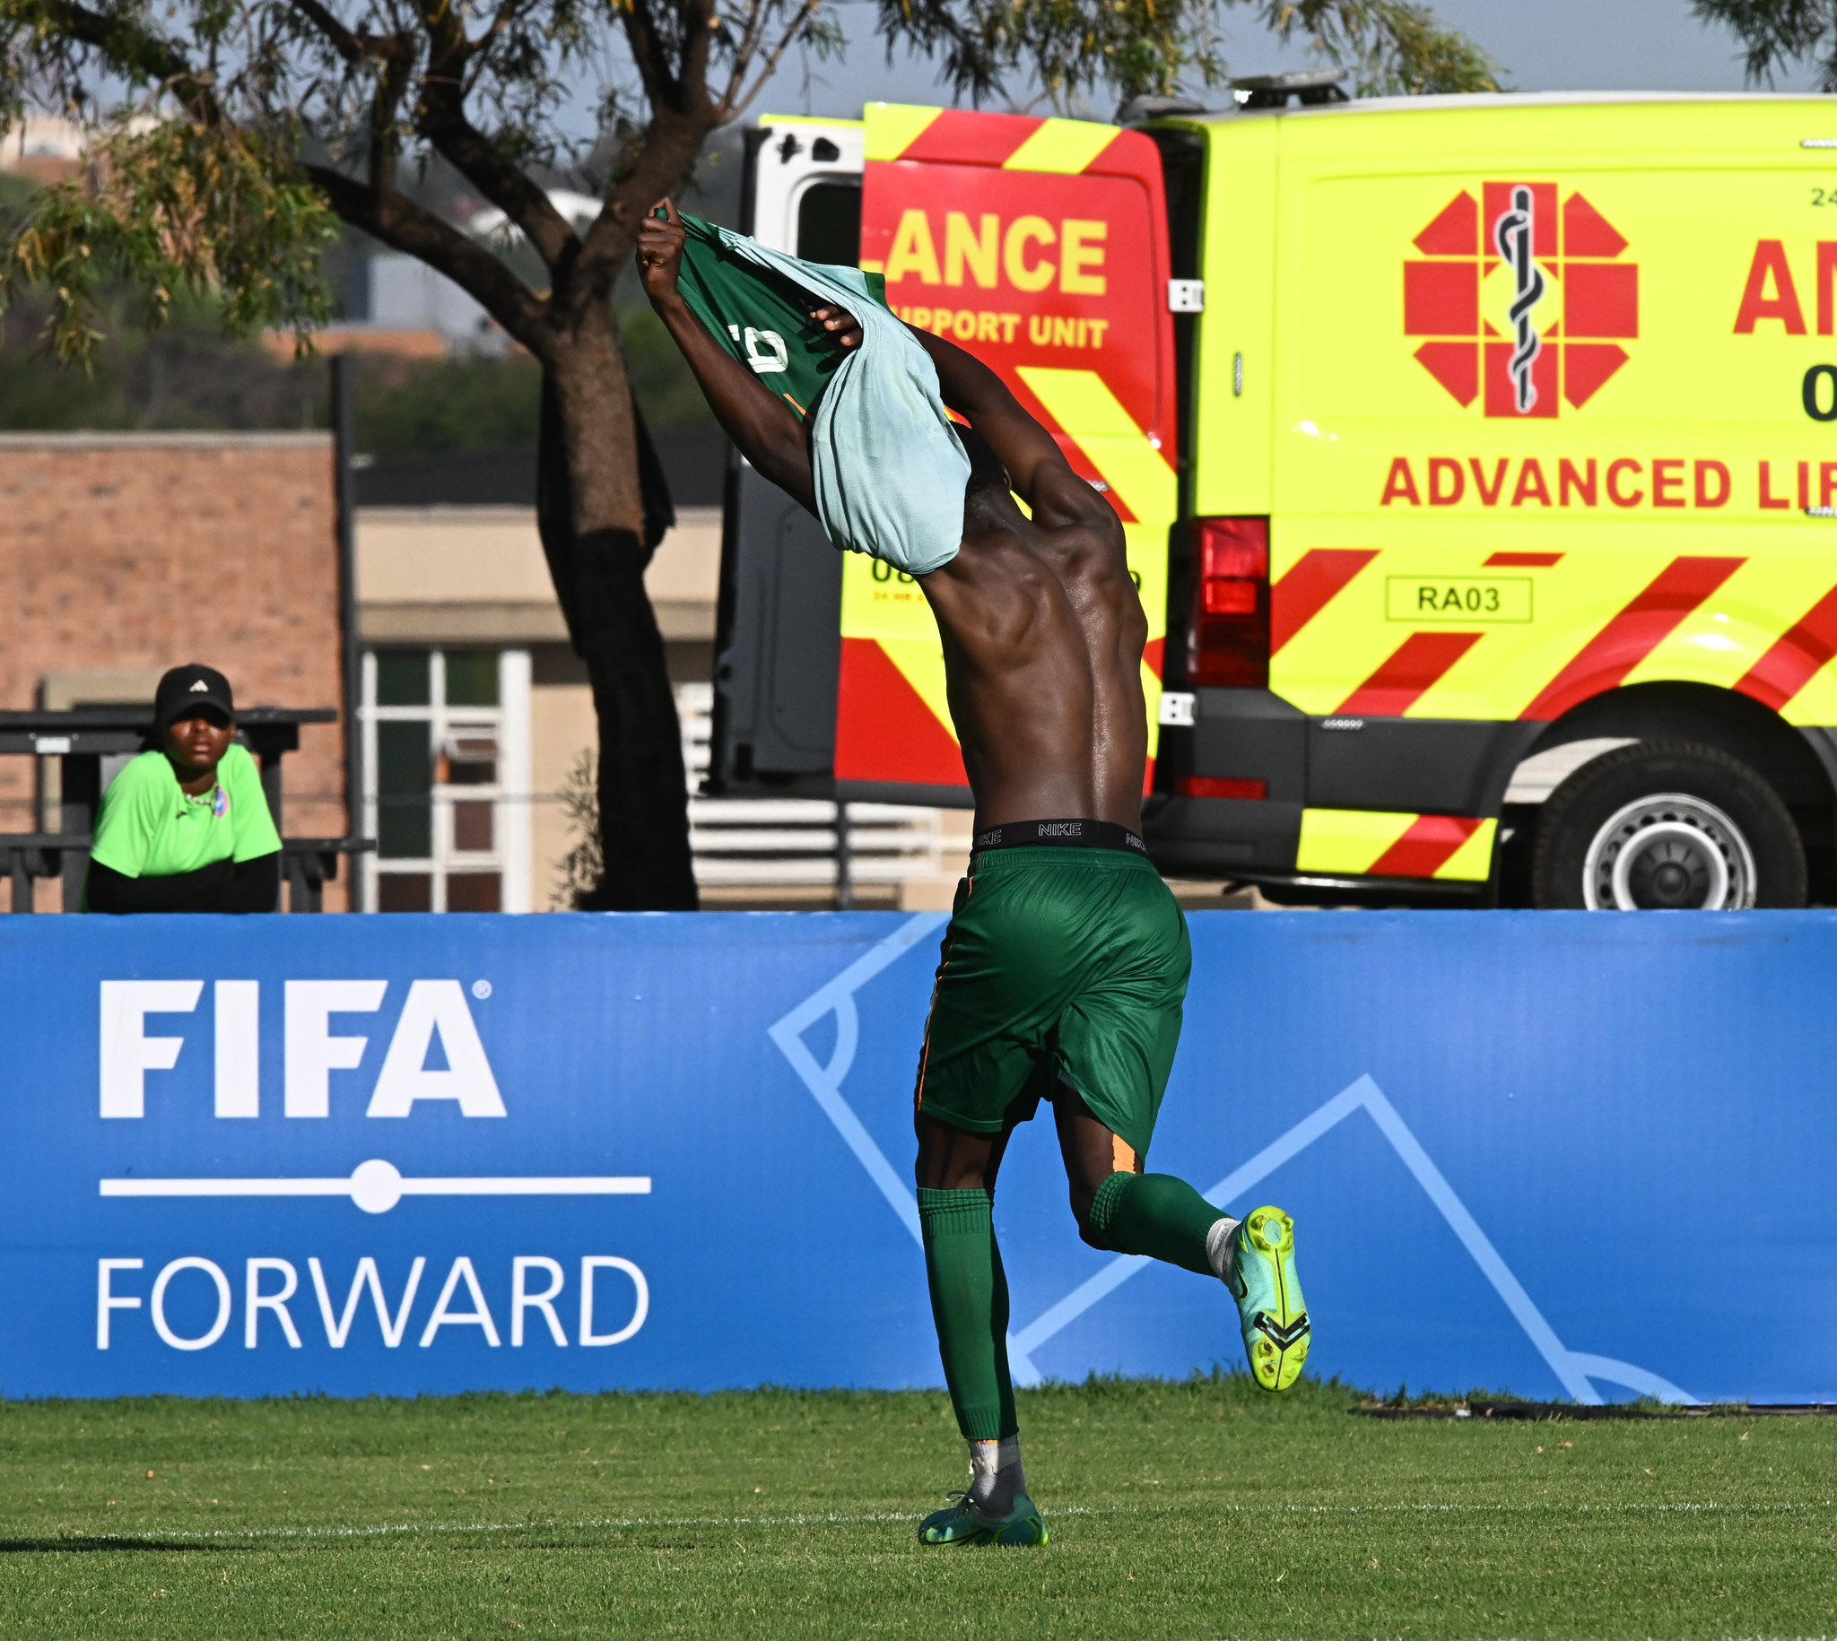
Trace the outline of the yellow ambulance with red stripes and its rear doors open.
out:
[[[1328,79],[766,117],[744,226],[884,274],[1104,486],[1170,876],[1837,898],[1837,99]],[[726,532],[713,789],[968,804],[918,586],[744,464]]]

